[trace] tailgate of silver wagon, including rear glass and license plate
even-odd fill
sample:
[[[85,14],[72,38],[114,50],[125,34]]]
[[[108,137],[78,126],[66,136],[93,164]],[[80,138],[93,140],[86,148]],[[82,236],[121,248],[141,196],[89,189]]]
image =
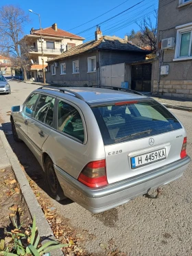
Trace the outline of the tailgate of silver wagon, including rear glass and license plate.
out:
[[[108,183],[180,159],[184,128],[169,110],[147,100],[93,108],[106,151]],[[99,115],[98,115],[99,113]]]

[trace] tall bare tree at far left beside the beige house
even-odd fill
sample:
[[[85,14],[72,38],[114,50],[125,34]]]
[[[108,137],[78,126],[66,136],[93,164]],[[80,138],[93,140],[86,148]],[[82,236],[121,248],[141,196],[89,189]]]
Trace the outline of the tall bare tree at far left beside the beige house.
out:
[[[29,46],[24,35],[24,25],[29,22],[29,16],[15,5],[3,5],[0,8],[0,48],[9,53],[23,70],[23,78],[27,80],[29,65]],[[22,52],[21,52],[22,49]]]

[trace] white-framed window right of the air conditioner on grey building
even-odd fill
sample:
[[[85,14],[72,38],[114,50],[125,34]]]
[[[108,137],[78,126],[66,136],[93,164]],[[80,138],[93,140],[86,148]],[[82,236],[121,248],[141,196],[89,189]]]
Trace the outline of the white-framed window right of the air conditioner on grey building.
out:
[[[176,52],[175,52],[174,60],[191,59],[192,58],[192,26],[184,27],[184,25],[182,25],[180,27],[178,27],[178,31],[177,31]]]

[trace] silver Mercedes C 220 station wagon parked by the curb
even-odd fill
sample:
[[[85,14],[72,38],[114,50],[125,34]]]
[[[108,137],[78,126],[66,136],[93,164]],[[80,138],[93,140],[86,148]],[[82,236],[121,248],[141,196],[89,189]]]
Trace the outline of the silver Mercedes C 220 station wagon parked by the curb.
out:
[[[12,107],[11,123],[43,167],[50,196],[92,213],[180,178],[191,161],[180,121],[131,90],[43,86]]]

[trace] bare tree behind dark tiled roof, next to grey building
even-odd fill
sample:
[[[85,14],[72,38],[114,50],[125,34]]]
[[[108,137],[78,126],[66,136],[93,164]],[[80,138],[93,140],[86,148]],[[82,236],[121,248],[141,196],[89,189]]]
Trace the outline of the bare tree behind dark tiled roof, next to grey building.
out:
[[[155,22],[147,16],[144,17],[140,23],[137,23],[140,27],[139,38],[143,45],[149,46],[152,51],[156,50],[156,38],[157,38],[157,25],[158,25],[158,10],[154,10]]]

